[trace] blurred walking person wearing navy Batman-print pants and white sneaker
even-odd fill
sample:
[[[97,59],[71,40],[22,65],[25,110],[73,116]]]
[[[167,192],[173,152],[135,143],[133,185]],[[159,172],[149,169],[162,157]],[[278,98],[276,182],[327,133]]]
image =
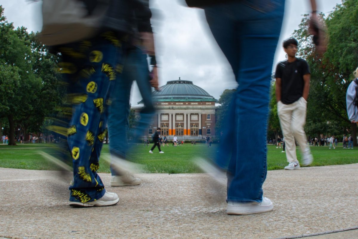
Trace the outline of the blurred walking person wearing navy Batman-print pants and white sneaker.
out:
[[[54,5],[57,1],[47,4]],[[83,1],[82,4],[73,1],[72,4],[77,4],[76,9],[81,6],[81,13],[86,12],[88,17],[103,7],[97,0]],[[68,136],[73,163],[73,180],[69,187],[69,205],[73,207],[110,206],[119,201],[116,193],[106,191],[98,176],[98,160],[107,133],[110,94],[121,73],[116,70],[125,62],[132,27],[137,24],[139,31],[145,32],[140,28],[146,28],[151,16],[147,1],[113,0],[108,4],[101,15],[102,20],[98,21],[100,26],[95,36],[61,43],[54,49],[62,56],[60,73],[63,73],[67,97],[72,104],[72,110],[69,110],[72,118],[64,135]]]

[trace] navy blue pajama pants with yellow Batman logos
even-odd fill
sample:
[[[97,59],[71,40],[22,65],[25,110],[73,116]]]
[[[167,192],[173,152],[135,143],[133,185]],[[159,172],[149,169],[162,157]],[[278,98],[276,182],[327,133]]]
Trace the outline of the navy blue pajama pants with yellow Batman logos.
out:
[[[90,202],[105,194],[97,174],[102,142],[107,134],[107,109],[122,60],[122,41],[112,32],[79,43],[59,47],[60,72],[67,82],[72,118],[67,143],[73,162],[70,201]]]

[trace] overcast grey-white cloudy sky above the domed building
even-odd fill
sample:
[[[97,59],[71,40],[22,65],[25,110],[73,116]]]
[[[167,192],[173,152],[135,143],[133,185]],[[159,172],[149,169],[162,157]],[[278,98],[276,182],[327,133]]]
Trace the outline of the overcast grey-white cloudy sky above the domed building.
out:
[[[203,10],[184,7],[183,0],[151,0],[151,8],[160,18],[152,19],[154,28],[159,85],[167,81],[190,80],[210,95],[219,99],[225,89],[236,87],[226,58],[218,48],[208,26],[203,22]],[[332,11],[341,0],[316,0],[318,10]],[[42,19],[40,3],[26,0],[0,0],[4,15],[15,27],[25,26],[29,31],[40,31]],[[276,49],[274,66],[285,59],[281,43],[298,28],[303,14],[310,12],[309,0],[286,0],[284,24]],[[274,67],[273,67],[274,68]],[[133,87],[131,104],[141,100],[137,87]]]

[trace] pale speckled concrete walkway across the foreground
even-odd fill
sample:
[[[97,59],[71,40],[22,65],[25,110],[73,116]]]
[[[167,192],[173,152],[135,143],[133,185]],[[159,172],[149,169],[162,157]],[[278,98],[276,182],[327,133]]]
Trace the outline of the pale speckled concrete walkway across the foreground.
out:
[[[358,164],[269,171],[274,211],[246,216],[226,214],[225,186],[205,174],[141,174],[125,187],[100,176],[120,202],[71,208],[71,173],[0,168],[0,238],[292,238],[358,226]]]

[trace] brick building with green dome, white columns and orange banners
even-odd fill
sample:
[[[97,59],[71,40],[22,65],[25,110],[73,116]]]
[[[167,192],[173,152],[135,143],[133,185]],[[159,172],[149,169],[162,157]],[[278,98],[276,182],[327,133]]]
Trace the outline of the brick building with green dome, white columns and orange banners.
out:
[[[215,136],[215,110],[217,100],[192,81],[168,81],[159,91],[153,92],[156,117],[149,125],[148,134],[158,127],[161,135],[172,139],[201,139]],[[133,106],[139,115],[144,105]],[[169,137],[168,137],[169,136]]]

